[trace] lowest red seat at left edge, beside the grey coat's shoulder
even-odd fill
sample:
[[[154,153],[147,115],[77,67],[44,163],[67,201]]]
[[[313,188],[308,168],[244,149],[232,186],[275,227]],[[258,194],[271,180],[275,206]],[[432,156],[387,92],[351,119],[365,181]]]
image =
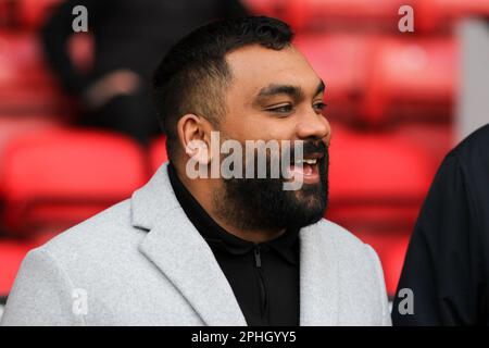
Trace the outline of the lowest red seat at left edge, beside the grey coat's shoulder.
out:
[[[0,239],[0,297],[7,297],[26,253],[36,247],[32,241]]]

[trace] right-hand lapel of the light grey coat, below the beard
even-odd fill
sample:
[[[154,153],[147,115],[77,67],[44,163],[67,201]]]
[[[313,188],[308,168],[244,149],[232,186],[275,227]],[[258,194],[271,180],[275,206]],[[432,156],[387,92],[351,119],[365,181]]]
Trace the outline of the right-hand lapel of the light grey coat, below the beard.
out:
[[[339,265],[333,240],[324,233],[314,224],[299,234],[301,326],[339,324]]]

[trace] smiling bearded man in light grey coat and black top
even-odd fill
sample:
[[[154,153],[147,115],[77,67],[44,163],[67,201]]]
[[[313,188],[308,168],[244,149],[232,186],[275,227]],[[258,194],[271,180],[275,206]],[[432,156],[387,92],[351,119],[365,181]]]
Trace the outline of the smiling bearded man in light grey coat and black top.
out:
[[[180,40],[153,80],[170,164],[131,199],[32,251],[3,324],[389,325],[377,256],[322,219],[324,84],[291,39],[278,20],[246,17]],[[279,177],[208,175],[228,159],[220,145],[253,140],[290,140],[303,161],[283,161]],[[263,167],[238,162],[238,174]],[[300,188],[285,189],[294,177]]]

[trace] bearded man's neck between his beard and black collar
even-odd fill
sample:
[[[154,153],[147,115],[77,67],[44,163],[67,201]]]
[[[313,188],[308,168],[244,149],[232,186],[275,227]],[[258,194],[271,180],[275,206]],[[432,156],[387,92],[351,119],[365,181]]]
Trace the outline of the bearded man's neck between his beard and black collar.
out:
[[[221,188],[221,181],[218,178],[196,178],[189,179],[187,175],[175,167],[176,174],[179,181],[199,202],[199,204],[205,210],[205,212],[224,229],[243,240],[252,241],[254,244],[265,243],[279,237],[286,228],[277,229],[246,229],[230,223],[224,216],[215,211],[213,197]]]

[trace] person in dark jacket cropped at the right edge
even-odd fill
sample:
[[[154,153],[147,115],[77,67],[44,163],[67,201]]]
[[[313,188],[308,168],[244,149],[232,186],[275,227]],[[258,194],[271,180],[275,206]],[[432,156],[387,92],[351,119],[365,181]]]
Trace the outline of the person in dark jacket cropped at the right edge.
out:
[[[488,149],[486,125],[441,164],[408,249],[394,325],[489,324]]]

